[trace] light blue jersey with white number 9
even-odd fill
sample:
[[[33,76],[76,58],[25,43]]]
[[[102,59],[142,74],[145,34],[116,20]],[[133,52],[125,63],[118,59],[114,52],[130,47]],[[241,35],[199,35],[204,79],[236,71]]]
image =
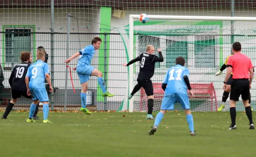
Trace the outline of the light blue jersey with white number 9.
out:
[[[29,88],[45,88],[45,74],[50,74],[49,66],[42,60],[38,60],[29,66],[26,76],[29,77]]]

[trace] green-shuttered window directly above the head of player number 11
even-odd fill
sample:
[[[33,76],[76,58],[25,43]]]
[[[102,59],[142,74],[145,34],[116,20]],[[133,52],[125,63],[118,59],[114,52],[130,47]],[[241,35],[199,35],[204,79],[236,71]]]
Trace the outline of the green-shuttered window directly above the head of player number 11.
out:
[[[184,37],[183,37],[184,38]],[[175,59],[184,57],[187,62],[188,44],[186,41],[166,40],[166,68],[175,66]]]

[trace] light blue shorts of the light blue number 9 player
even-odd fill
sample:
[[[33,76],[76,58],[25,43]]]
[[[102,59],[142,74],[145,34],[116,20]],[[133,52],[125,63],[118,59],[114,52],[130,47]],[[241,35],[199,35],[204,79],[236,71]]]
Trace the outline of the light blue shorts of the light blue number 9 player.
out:
[[[40,102],[49,102],[49,97],[45,88],[30,88],[32,100],[40,100]]]

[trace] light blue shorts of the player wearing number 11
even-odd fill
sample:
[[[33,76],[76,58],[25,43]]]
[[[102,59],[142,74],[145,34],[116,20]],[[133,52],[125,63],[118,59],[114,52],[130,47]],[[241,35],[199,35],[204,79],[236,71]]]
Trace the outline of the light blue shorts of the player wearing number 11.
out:
[[[161,110],[173,110],[174,103],[180,103],[183,109],[190,109],[189,97],[183,93],[169,93],[164,95]]]

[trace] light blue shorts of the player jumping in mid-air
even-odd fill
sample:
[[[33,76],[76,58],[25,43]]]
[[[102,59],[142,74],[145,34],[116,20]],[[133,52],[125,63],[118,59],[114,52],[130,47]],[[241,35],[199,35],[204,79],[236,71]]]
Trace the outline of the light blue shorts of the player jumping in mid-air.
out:
[[[79,66],[76,67],[76,73],[79,76],[80,83],[85,83],[90,80],[90,76],[92,71],[95,67],[94,66]]]

